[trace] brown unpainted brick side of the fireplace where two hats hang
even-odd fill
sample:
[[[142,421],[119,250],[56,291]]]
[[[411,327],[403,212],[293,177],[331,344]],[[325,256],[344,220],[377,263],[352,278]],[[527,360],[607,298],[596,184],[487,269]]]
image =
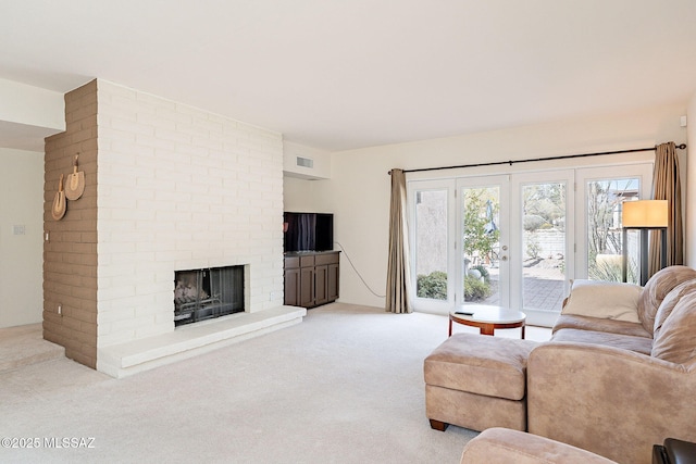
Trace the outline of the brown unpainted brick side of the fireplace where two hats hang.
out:
[[[82,364],[97,365],[97,80],[65,95],[66,130],[46,139],[44,338]],[[51,216],[61,174],[79,154],[85,193]],[[48,239],[47,239],[48,237]]]

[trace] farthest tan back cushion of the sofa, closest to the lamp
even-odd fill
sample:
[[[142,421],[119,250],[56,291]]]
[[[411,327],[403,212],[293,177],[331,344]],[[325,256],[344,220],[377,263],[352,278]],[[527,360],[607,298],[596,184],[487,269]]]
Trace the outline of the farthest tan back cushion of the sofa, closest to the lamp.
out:
[[[643,327],[652,334],[655,315],[664,297],[678,285],[696,278],[696,269],[687,266],[669,266],[658,271],[643,288],[638,302],[638,317]]]

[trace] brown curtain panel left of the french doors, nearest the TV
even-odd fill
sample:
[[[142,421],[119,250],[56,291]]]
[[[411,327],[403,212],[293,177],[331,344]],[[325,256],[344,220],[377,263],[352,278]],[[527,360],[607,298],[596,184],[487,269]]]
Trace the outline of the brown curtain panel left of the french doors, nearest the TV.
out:
[[[406,175],[401,170],[391,170],[386,301],[386,311],[391,313],[410,313],[412,311],[409,290],[411,272],[406,208]]]

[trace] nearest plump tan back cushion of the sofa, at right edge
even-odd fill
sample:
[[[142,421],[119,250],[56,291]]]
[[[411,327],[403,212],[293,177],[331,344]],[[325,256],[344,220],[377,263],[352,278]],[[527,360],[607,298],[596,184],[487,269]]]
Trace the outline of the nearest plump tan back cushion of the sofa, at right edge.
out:
[[[652,356],[685,364],[696,356],[696,293],[683,296],[652,343]]]

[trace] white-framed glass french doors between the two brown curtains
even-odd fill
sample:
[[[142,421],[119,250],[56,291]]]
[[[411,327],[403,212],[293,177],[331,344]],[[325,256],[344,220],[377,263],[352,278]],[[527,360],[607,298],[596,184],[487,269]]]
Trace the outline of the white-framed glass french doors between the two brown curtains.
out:
[[[552,325],[571,279],[610,279],[597,263],[617,262],[621,201],[647,198],[650,173],[638,164],[409,181],[413,308],[493,304]]]

